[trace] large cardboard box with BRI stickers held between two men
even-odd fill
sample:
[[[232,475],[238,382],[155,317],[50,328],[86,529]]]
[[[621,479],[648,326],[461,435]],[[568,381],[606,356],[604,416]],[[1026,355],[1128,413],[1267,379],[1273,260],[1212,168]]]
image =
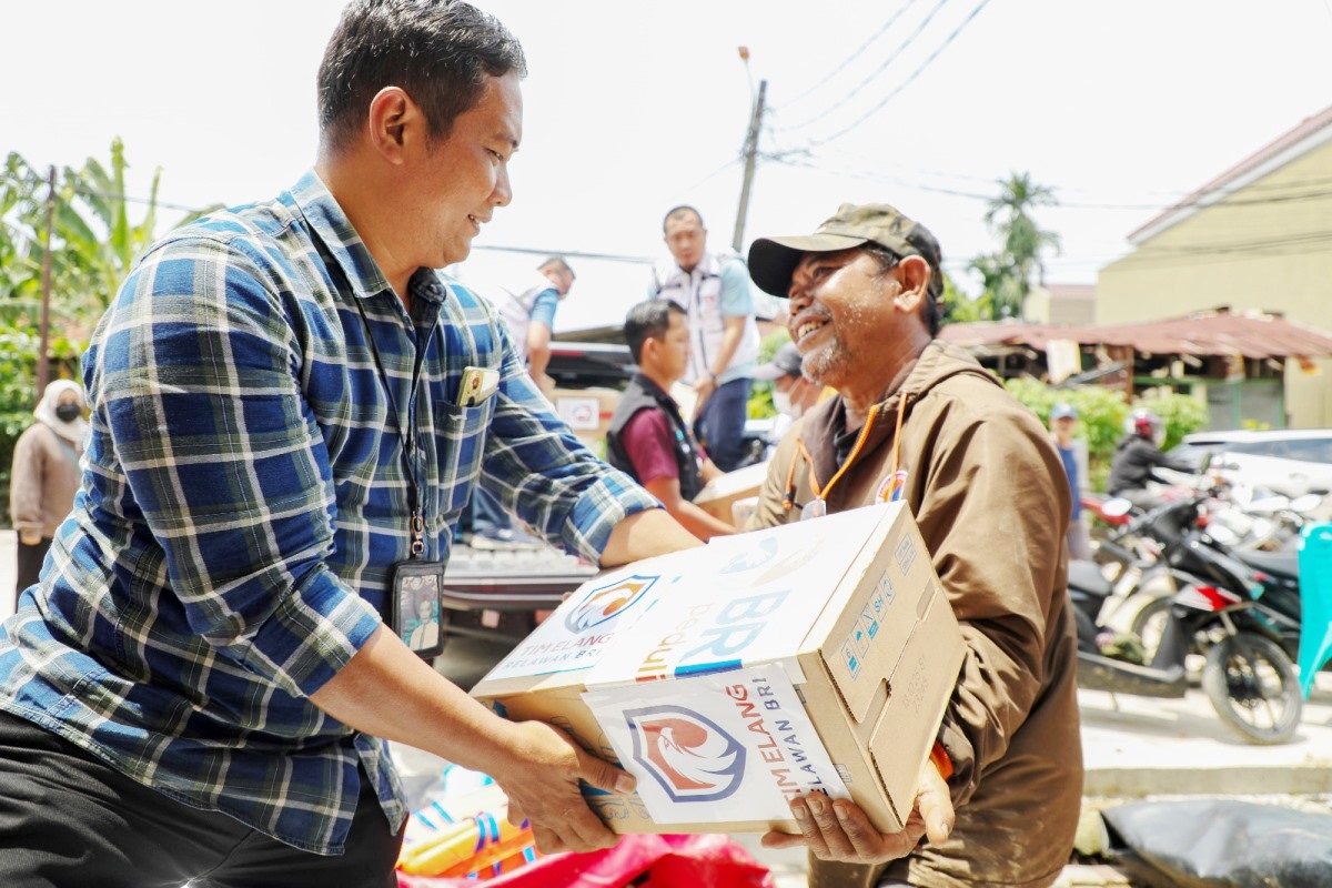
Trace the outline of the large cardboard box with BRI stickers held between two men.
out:
[[[815,789],[896,831],[962,656],[915,522],[888,503],[591,580],[473,695],[633,772],[627,799],[589,793],[617,832],[797,832],[787,797]]]

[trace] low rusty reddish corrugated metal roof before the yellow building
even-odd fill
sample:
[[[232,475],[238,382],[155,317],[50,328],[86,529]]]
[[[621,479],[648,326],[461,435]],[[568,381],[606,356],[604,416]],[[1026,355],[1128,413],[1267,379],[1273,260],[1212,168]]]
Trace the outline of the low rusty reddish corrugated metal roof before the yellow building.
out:
[[[963,346],[1027,345],[1044,350],[1051,339],[1083,345],[1127,345],[1148,354],[1241,354],[1245,358],[1332,355],[1332,333],[1269,314],[1203,312],[1138,324],[950,324],[939,338]]]

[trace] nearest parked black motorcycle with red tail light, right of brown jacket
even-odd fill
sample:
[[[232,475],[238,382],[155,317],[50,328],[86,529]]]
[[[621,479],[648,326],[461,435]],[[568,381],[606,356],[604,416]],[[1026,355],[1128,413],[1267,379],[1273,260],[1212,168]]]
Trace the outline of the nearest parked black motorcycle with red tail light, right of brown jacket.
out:
[[[1185,658],[1205,655],[1203,691],[1229,728],[1251,743],[1283,743],[1300,723],[1303,696],[1291,658],[1271,628],[1261,586],[1241,562],[1204,543],[1196,529],[1208,494],[1160,506],[1148,515],[1177,591],[1154,604],[1159,639],[1148,651],[1098,626],[1114,588],[1086,562],[1070,566],[1078,623],[1078,686],[1139,696],[1179,698],[1188,688]],[[1147,662],[1143,662],[1143,660]]]

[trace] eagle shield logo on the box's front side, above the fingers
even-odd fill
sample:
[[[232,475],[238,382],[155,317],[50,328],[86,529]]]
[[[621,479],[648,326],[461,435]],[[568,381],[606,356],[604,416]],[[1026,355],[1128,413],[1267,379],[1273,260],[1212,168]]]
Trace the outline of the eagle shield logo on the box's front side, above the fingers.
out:
[[[626,710],[634,762],[671,801],[725,799],[745,776],[745,747],[711,719],[682,706]]]

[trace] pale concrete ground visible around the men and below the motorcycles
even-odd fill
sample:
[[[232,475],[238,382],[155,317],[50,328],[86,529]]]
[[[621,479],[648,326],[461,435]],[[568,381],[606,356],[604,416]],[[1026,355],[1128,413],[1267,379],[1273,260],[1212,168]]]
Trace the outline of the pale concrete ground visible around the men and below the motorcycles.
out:
[[[0,531],[0,616],[13,610],[13,531]],[[437,668],[470,687],[503,648],[450,639]],[[1295,738],[1281,746],[1252,746],[1220,722],[1197,688],[1183,699],[1154,700],[1079,691],[1087,807],[1106,799],[1158,795],[1273,796],[1332,793],[1332,672],[1323,671]],[[409,754],[413,770],[436,767]],[[803,852],[773,852],[758,836],[738,836],[773,869],[777,888],[803,888]],[[1112,867],[1071,865],[1060,888],[1127,885]]]

